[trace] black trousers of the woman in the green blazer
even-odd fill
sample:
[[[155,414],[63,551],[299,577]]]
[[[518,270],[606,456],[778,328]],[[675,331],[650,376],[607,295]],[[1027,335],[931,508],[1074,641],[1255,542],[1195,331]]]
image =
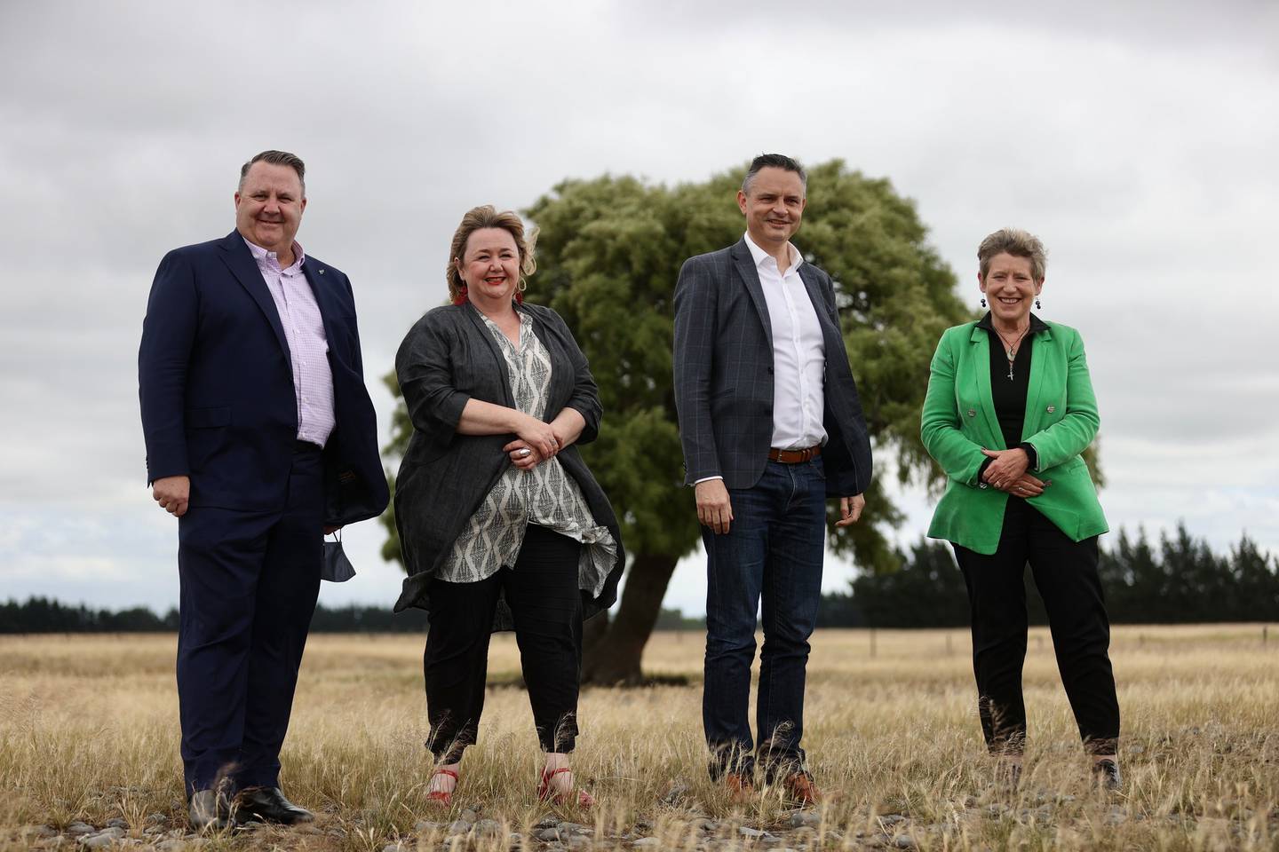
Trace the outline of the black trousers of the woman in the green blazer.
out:
[[[972,668],[981,731],[991,754],[1026,742],[1026,563],[1044,598],[1056,667],[1090,754],[1115,754],[1119,699],[1110,669],[1110,620],[1097,577],[1097,538],[1072,542],[1019,497],[1008,498],[994,556],[954,545],[972,611]]]

